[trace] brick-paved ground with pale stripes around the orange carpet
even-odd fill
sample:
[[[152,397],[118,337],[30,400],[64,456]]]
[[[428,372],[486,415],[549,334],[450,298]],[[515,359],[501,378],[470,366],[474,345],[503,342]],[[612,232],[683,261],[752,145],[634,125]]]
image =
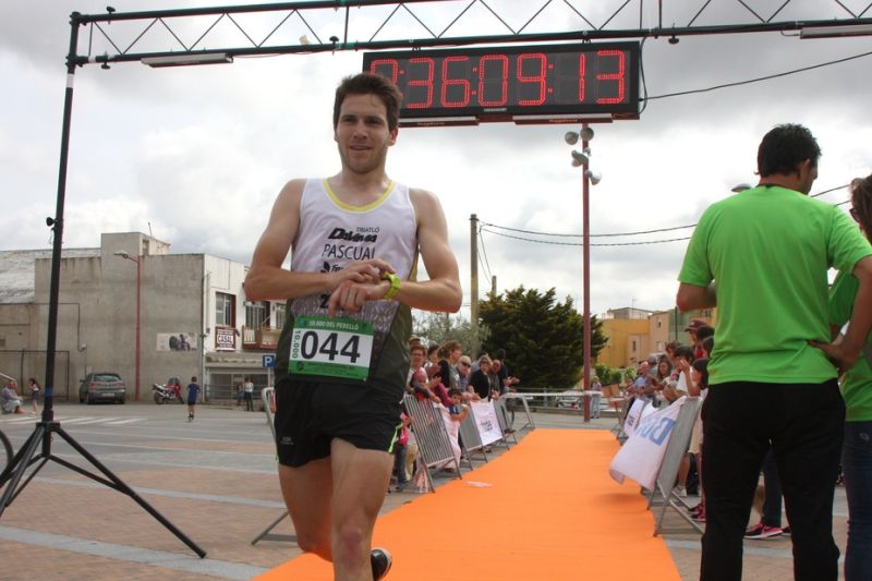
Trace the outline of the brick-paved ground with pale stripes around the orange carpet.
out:
[[[57,412],[76,441],[203,547],[207,557],[197,558],[129,497],[49,463],[0,518],[4,552],[13,556],[0,579],[245,580],[299,555],[289,519],[272,531],[283,537],[251,545],[284,512],[262,413],[206,406],[198,407],[197,419],[187,423],[183,407],[171,406],[60,404]],[[601,419],[584,425],[578,416],[562,414],[534,419],[538,426],[550,428],[605,429],[614,424]],[[0,428],[19,447],[34,421],[3,416]],[[56,436],[52,451],[84,465],[59,439]],[[496,450],[505,453],[502,448]],[[389,494],[383,512],[416,496]],[[846,513],[839,488],[834,526],[843,553]],[[682,579],[697,579],[699,535],[671,510],[664,538]],[[632,547],[627,550],[631,554]],[[744,570],[750,581],[792,579],[789,538],[746,541]],[[611,579],[621,579],[619,564]]]

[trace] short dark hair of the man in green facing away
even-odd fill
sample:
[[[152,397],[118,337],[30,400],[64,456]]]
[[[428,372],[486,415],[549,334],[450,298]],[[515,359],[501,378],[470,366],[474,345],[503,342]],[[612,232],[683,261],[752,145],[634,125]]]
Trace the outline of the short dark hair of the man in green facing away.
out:
[[[821,147],[811,131],[803,125],[776,125],[763,136],[756,150],[756,171],[761,178],[776,173],[796,173],[797,166],[811,160],[818,167]]]

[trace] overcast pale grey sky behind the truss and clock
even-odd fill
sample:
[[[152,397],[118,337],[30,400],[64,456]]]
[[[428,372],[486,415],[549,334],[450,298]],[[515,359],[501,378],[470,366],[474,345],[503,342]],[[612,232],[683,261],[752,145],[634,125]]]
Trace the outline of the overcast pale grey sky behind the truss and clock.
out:
[[[106,3],[0,3],[0,75],[4,80],[0,92],[0,250],[51,245],[45,218],[55,215],[56,206],[69,14],[102,13]],[[462,8],[467,3],[456,4]],[[488,3],[511,9],[501,14],[516,27],[544,4],[540,0]],[[622,3],[573,2],[597,25]],[[553,11],[549,20],[537,21],[529,32],[582,27],[564,4],[554,4],[548,9]],[[639,4],[638,0],[631,2],[609,27],[635,27]],[[646,19],[656,16],[655,4],[644,3]],[[687,2],[664,4],[667,10],[683,5],[683,14],[667,12],[678,26],[687,24],[700,8],[691,12]],[[734,0],[712,4],[695,24],[750,22],[747,9]],[[220,2],[119,0],[113,5],[119,12],[130,12]],[[441,4],[415,10],[443,26],[459,11],[449,12]],[[494,27],[493,17],[481,7],[475,10],[479,13],[471,11],[472,17],[452,28],[455,34],[449,36],[505,32]],[[846,16],[836,2],[795,0],[775,20]],[[255,27],[259,24],[254,19],[249,22]],[[341,36],[341,29],[331,29],[337,22],[342,21],[332,16],[324,22],[314,19],[311,24],[327,38]],[[378,24],[373,21],[370,34]],[[655,26],[656,21],[647,25]],[[120,23],[111,26],[113,32],[124,32]],[[270,26],[275,24],[264,22],[261,28]],[[281,34],[295,44],[305,33],[292,19]],[[424,35],[408,14],[398,14],[377,38]],[[120,37],[128,38],[124,34]],[[99,46],[99,38],[94,41]],[[154,50],[165,49],[158,45]],[[84,43],[80,53],[86,50]],[[643,46],[643,63],[647,95],[656,97],[869,51],[872,37],[695,36],[675,46],[666,38],[649,39]],[[803,123],[821,144],[824,155],[812,193],[869,174],[871,64],[872,57],[863,57],[761,83],[652,99],[637,121],[595,125],[592,169],[601,172],[603,180],[591,190],[592,234],[695,223],[708,204],[730,195],[730,187],[755,183],[756,146],[778,123]],[[205,252],[247,263],[281,185],[291,178],[324,177],[338,170],[332,92],[342,76],[361,66],[362,53],[337,52],[238,58],[231,65],[219,66],[153,70],[140,63],[117,63],[108,71],[96,64],[78,69],[64,246],[98,246],[100,232],[142,231],[170,242],[172,252]],[[562,138],[570,129],[578,128],[487,123],[400,130],[388,156],[388,173],[440,197],[461,269],[464,303],[469,303],[471,214],[483,222],[521,230],[581,232],[581,172],[570,166],[571,147]],[[847,196],[841,189],[822,199],[839,203]],[[841,207],[847,209],[847,205]],[[690,233],[683,229],[597,237],[592,242],[658,241]],[[580,243],[580,239],[513,235]],[[482,296],[493,275],[500,292],[519,285],[542,290],[556,287],[558,296],[571,295],[581,307],[579,245],[533,243],[489,232],[482,237],[480,247],[487,263],[480,271]],[[592,247],[592,312],[623,306],[670,308],[686,244]]]

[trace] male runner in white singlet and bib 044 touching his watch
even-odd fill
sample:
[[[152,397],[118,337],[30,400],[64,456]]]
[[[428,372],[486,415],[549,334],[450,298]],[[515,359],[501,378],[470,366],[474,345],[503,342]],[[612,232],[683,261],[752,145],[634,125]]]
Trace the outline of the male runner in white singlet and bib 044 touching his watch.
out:
[[[400,99],[380,76],[342,81],[334,104],[341,170],[284,185],[245,280],[250,300],[289,300],[275,425],[298,544],[348,581],[382,579],[391,565],[371,542],[401,426],[410,307],[457,312],[461,302],[439,201],[385,172]],[[419,253],[424,282],[415,281]]]

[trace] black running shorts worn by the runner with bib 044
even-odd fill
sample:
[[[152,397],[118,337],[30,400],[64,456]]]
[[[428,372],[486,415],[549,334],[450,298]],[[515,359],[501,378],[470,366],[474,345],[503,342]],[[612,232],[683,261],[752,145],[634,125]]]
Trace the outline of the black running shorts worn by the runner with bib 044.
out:
[[[281,380],[274,419],[279,463],[299,468],[327,458],[332,438],[392,452],[401,396],[402,390],[391,397],[363,385]]]

